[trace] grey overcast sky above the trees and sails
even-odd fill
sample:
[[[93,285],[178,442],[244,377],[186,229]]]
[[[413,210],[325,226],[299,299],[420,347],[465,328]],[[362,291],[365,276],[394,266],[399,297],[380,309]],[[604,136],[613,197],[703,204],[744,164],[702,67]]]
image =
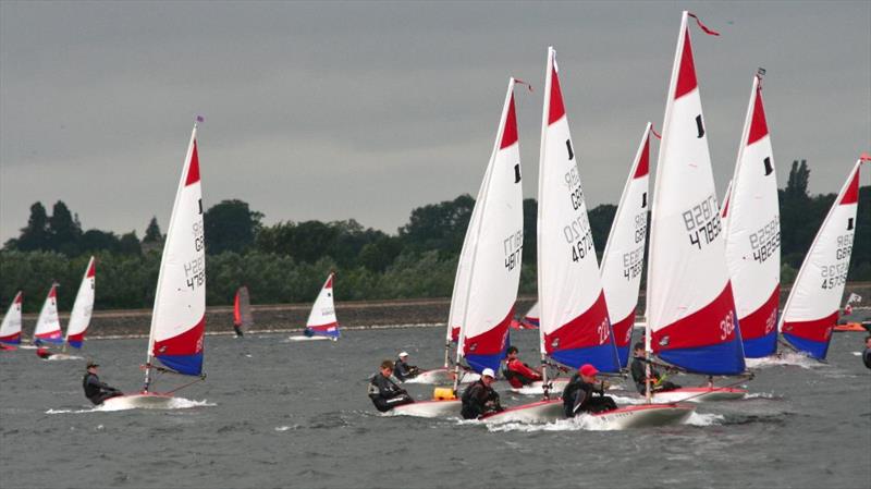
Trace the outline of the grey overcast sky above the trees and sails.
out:
[[[616,203],[645,123],[662,124],[684,9],[722,33],[691,29],[720,194],[757,66],[781,185],[806,158],[811,192],[837,192],[871,149],[868,1],[2,0],[0,240],[36,200],[85,229],[165,230],[196,114],[206,206],[394,233],[414,207],[475,195],[508,76],[536,88],[516,97],[535,197],[549,45],[589,204]]]

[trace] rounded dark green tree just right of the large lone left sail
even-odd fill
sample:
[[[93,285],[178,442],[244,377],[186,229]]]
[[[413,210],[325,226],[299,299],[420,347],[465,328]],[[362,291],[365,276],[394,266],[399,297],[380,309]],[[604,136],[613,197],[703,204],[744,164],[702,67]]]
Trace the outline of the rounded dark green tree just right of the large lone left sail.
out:
[[[203,216],[206,250],[211,255],[244,250],[254,244],[262,218],[262,213],[250,210],[248,204],[242,200],[216,204]]]

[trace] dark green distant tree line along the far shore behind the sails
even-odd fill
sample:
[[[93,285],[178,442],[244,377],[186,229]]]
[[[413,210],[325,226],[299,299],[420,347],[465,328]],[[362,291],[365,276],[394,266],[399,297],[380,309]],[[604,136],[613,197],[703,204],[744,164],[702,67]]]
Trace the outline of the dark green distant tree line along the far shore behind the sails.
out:
[[[835,194],[810,196],[810,170],[794,161],[780,190],[782,279],[790,283]],[[450,296],[459,250],[475,199],[453,200],[412,210],[408,222],[388,234],[357,221],[282,221],[262,223],[263,215],[242,200],[223,200],[204,215],[207,301],[231,304],[237,286],[247,285],[252,302],[312,301],[330,270],[335,270],[339,299]],[[848,280],[871,280],[871,187],[859,193],[860,216]],[[535,199],[524,200],[524,252],[520,292],[536,291]],[[590,209],[597,254],[601,254],[616,207]],[[59,304],[69,310],[89,255],[97,256],[98,309],[150,308],[163,235],[152,218],[139,240],[135,231],[116,235],[83,231],[78,216],[63,201],[51,216],[40,203],[30,206],[27,225],[0,250],[0,308],[15,291],[25,293],[25,310],[39,309],[52,281],[60,283]],[[2,314],[2,311],[0,311]]]

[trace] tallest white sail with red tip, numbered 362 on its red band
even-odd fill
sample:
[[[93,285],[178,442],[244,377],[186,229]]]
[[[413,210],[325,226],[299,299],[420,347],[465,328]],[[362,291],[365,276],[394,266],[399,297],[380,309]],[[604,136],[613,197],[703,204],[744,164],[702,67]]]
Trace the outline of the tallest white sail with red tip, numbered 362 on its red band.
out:
[[[662,124],[650,230],[647,316],[661,358],[707,375],[745,369],[725,259],[688,13]]]

